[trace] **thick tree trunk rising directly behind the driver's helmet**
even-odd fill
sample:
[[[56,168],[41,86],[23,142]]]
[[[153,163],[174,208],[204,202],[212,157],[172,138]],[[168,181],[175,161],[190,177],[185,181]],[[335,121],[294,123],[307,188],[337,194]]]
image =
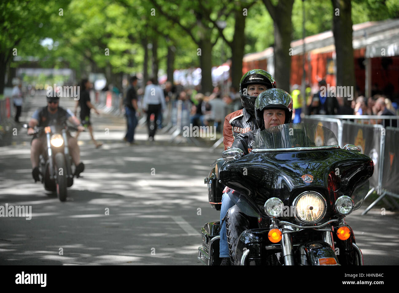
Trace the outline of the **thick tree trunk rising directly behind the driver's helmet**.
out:
[[[275,79],[278,88],[287,92],[290,91],[291,76],[291,56],[289,55],[291,47],[292,34],[292,4],[293,0],[279,0],[276,7],[277,17],[275,24]],[[281,17],[284,16],[284,17]]]

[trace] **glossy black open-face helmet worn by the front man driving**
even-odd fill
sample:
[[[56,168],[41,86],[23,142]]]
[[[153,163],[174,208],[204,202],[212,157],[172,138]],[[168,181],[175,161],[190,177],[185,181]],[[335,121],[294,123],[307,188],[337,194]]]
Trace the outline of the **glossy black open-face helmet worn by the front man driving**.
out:
[[[265,128],[263,110],[281,109],[285,111],[285,123],[290,123],[292,118],[292,97],[280,88],[271,88],[261,92],[255,100],[255,121],[260,129]]]

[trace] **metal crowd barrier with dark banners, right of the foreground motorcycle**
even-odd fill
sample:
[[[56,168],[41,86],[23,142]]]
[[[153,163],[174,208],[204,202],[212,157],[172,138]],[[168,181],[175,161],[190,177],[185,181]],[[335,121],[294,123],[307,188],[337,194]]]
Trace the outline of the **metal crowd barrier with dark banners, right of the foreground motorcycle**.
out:
[[[342,121],[343,119],[356,122]],[[399,161],[396,159],[396,164],[392,162],[399,145],[399,128],[384,128],[381,124],[375,124],[376,119],[389,119],[391,120],[390,124],[392,124],[393,120],[399,120],[399,116],[312,115],[305,116],[303,120],[305,123],[314,123],[327,128],[330,128],[328,127],[328,124],[330,124],[333,132],[338,129],[338,133],[334,132],[334,134],[337,135],[340,147],[345,144],[354,144],[361,148],[362,153],[369,155],[373,160],[375,164],[374,174],[370,178],[372,188],[367,193],[366,198],[373,191],[376,191],[379,197],[362,212],[362,215],[366,214],[380,200],[392,207],[391,203],[384,198],[386,195],[399,198]],[[399,123],[397,126],[399,126]],[[389,144],[391,151],[385,150],[385,144]],[[388,155],[390,156],[389,162],[386,160]],[[395,171],[387,170],[388,163],[390,168],[392,166],[396,168]],[[398,207],[396,202],[393,202],[393,205]]]

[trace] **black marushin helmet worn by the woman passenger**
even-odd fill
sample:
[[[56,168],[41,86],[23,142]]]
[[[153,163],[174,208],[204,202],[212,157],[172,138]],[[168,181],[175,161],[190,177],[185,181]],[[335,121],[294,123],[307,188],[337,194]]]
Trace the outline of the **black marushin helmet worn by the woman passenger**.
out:
[[[265,87],[276,88],[276,81],[272,75],[262,69],[252,69],[245,73],[240,81],[240,97],[244,108],[253,112],[256,96],[248,96],[247,87],[249,85],[265,85]]]

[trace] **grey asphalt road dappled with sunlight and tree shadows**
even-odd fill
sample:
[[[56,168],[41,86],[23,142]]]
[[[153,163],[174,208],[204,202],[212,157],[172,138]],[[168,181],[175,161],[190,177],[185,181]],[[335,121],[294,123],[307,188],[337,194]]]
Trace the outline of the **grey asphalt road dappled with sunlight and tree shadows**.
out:
[[[44,98],[33,98],[28,120]],[[61,101],[61,106],[73,101]],[[200,229],[217,220],[207,203],[203,177],[223,149],[168,144],[168,135],[148,142],[138,128],[138,145],[121,141],[122,116],[92,118],[96,149],[89,134],[79,137],[83,177],[75,179],[65,203],[34,184],[30,138],[18,129],[12,144],[0,147],[0,205],[32,206],[32,219],[0,217],[0,265],[198,265]],[[361,210],[365,206],[363,205]],[[399,264],[399,216],[379,208],[346,218],[366,265]]]

